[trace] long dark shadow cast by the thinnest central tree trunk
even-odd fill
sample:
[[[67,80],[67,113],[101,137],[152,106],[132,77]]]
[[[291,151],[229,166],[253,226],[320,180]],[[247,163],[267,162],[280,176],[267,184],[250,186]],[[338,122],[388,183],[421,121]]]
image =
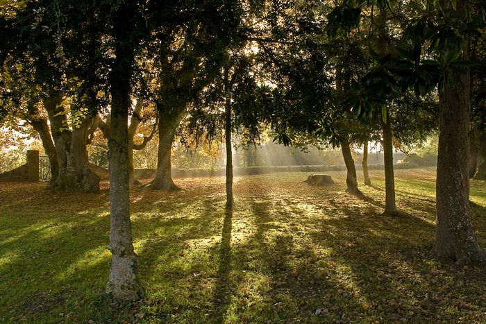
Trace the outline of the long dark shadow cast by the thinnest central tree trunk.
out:
[[[231,230],[233,228],[233,210],[226,210],[221,233],[221,247],[219,250],[219,267],[213,308],[217,323],[222,323],[224,314],[230,303],[231,291]]]

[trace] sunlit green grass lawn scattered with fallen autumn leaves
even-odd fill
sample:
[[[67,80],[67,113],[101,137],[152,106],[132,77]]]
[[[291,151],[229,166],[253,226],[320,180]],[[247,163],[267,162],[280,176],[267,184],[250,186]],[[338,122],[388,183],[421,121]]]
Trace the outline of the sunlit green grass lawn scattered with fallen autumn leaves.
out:
[[[309,173],[180,179],[184,191],[135,189],[131,210],[146,298],[112,305],[108,190],[53,194],[0,187],[0,322],[371,323],[486,321],[486,272],[427,257],[435,235],[435,171],[396,171],[403,216],[380,216],[384,181],[365,198],[303,183]],[[486,246],[486,183],[471,182]]]

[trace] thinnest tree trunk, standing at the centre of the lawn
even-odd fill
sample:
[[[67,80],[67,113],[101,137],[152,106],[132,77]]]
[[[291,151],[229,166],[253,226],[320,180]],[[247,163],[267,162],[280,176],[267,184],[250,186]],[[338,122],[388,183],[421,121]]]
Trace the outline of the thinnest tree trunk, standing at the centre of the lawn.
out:
[[[231,89],[226,71],[226,101],[224,103],[224,142],[226,144],[226,210],[233,210],[233,154],[231,151]]]

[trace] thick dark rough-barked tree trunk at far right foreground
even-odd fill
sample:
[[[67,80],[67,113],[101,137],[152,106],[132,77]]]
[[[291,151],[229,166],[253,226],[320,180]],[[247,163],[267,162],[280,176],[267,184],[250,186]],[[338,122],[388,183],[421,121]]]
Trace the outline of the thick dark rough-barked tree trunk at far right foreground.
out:
[[[465,1],[458,0],[457,10],[449,15],[461,18],[465,15]],[[464,49],[462,60],[469,53]],[[431,254],[437,259],[456,262],[459,265],[485,259],[480,250],[469,212],[469,68],[451,71],[455,82],[444,83],[439,95],[439,153],[437,157],[437,235]]]

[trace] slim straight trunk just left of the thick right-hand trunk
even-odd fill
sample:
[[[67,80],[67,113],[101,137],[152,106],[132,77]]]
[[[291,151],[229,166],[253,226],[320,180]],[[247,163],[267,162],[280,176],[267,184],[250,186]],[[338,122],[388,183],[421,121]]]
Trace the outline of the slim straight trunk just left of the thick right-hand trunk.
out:
[[[385,164],[385,214],[396,216],[395,175],[393,170],[393,135],[387,110],[386,122],[380,120],[383,130],[383,158]]]

